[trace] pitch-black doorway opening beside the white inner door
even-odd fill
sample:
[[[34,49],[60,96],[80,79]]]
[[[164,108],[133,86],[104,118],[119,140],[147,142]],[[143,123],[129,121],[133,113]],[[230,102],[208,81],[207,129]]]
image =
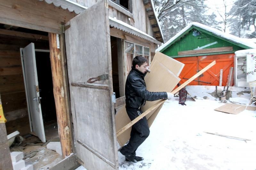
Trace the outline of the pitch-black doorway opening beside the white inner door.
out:
[[[49,52],[36,51],[36,69],[43,121],[56,121],[56,109],[52,85],[52,69]]]

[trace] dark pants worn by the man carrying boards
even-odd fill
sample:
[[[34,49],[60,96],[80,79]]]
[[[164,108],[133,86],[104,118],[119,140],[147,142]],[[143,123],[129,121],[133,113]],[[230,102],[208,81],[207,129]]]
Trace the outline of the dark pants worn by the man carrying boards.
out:
[[[138,109],[128,109],[126,108],[126,112],[131,119],[135,119],[143,112]],[[129,143],[125,145],[120,152],[125,156],[135,157],[136,156],[136,150],[142,144],[146,138],[149,136],[149,127],[148,127],[148,121],[146,117],[143,117],[138,122],[136,122],[134,125],[132,125],[132,131],[131,131],[131,137],[129,140]]]

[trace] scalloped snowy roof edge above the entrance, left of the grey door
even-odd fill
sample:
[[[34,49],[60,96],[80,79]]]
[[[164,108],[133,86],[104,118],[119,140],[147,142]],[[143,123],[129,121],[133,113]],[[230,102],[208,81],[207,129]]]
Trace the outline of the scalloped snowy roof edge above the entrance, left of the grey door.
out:
[[[70,12],[74,11],[76,14],[79,14],[85,9],[87,9],[87,7],[70,0],[39,0],[39,1],[45,1],[47,4],[53,3],[57,7],[60,6],[63,10],[68,9],[68,11]]]

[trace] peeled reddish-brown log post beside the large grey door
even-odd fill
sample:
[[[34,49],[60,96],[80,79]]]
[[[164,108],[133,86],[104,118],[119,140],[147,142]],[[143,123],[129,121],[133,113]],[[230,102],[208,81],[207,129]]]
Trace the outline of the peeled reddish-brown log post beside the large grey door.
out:
[[[58,40],[59,41],[59,40]],[[62,156],[65,158],[72,152],[71,149],[71,131],[69,124],[69,115],[66,104],[66,91],[64,90],[64,70],[62,67],[61,49],[57,47],[57,34],[49,33],[50,44],[50,60],[52,67],[52,83],[53,94],[56,107],[56,115],[58,122],[58,131],[60,136],[60,143],[62,149]]]

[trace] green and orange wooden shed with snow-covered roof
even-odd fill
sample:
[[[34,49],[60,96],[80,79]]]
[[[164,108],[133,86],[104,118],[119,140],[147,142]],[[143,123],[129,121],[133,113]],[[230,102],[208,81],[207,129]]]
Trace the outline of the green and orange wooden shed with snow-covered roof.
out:
[[[215,60],[216,64],[212,68],[189,85],[226,86],[230,67],[234,67],[235,51],[251,48],[256,48],[256,44],[193,22],[157,51],[185,64],[180,74],[181,84]],[[220,83],[221,69],[222,83]]]

